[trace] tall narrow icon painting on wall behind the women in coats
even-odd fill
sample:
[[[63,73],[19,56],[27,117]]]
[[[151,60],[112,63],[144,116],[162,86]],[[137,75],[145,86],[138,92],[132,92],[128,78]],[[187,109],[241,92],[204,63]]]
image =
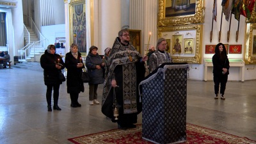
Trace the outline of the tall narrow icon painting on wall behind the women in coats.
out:
[[[86,52],[86,5],[85,1],[70,4],[70,45],[77,44],[78,51]]]

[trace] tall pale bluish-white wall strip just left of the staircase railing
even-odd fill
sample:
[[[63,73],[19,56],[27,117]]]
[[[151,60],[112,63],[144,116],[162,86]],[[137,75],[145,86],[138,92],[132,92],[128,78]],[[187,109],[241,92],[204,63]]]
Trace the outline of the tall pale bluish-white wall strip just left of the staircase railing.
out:
[[[18,55],[18,50],[24,47],[24,26],[22,13],[22,0],[17,0],[17,8],[12,9],[12,24],[13,24],[13,56]]]

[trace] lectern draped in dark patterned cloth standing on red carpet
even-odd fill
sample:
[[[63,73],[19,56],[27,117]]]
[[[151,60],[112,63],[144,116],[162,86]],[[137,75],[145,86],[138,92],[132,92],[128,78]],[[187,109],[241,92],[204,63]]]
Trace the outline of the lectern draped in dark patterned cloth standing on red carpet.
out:
[[[187,70],[186,63],[164,63],[141,81],[143,139],[186,142]]]

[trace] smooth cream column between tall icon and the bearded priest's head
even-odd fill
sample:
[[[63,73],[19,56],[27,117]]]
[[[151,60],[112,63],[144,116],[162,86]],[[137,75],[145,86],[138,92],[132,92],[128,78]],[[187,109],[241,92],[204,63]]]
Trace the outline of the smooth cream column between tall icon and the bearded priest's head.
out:
[[[104,54],[106,47],[113,46],[120,30],[121,1],[99,0],[99,54]]]

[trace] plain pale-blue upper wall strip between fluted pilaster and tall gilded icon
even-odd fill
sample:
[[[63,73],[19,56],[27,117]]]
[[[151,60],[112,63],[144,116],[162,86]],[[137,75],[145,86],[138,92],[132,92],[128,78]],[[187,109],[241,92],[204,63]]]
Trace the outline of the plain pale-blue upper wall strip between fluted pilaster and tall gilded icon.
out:
[[[53,1],[54,24],[65,24],[65,4],[63,0]]]

